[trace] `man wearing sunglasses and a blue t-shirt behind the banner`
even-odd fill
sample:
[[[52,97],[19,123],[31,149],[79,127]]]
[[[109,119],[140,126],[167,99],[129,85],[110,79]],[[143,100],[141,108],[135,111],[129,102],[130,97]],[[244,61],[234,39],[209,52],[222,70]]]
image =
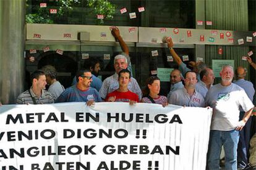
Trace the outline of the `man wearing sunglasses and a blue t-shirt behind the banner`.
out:
[[[101,102],[101,97],[95,88],[90,87],[92,83],[92,73],[90,70],[80,70],[76,75],[77,84],[67,88],[56,99],[55,103],[60,102],[87,102],[92,105],[94,102]]]

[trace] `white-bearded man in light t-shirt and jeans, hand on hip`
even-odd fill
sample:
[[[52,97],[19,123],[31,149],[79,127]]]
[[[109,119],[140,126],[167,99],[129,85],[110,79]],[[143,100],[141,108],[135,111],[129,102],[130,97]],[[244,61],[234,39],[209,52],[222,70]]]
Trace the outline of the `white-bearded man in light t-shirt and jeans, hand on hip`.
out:
[[[223,66],[221,83],[211,87],[205,97],[206,106],[213,108],[207,169],[219,169],[221,147],[224,147],[225,169],[237,169],[237,144],[242,130],[252,114],[254,105],[244,89],[232,83],[233,67]],[[239,107],[246,112],[239,121]]]

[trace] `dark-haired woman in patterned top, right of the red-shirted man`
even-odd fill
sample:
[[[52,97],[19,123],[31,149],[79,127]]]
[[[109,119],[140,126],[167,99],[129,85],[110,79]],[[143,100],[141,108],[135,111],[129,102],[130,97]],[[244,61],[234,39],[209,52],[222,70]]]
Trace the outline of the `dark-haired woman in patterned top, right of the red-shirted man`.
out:
[[[143,90],[143,103],[156,103],[165,107],[168,105],[168,100],[164,95],[158,95],[160,92],[160,79],[156,76],[150,76],[147,79],[147,85]]]

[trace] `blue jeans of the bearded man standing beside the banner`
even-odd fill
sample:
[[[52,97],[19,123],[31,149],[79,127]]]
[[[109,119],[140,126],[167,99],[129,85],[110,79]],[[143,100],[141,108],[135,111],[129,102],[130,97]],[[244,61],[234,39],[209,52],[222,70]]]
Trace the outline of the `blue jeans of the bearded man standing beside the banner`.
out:
[[[210,140],[207,153],[207,169],[220,168],[221,147],[224,147],[225,169],[237,169],[237,144],[239,131],[210,131]]]

